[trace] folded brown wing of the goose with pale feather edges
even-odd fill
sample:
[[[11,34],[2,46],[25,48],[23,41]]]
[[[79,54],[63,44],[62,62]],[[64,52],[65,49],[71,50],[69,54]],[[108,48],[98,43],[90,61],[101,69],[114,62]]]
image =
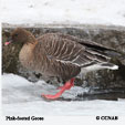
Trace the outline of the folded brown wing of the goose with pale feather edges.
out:
[[[79,66],[87,66],[97,62],[106,62],[107,56],[87,45],[80,44],[79,39],[61,33],[48,33],[38,39],[49,59],[62,63],[72,63]],[[77,42],[79,41],[79,42]],[[88,43],[87,43],[88,44]],[[92,43],[91,43],[92,44]],[[95,43],[96,46],[100,46]]]

